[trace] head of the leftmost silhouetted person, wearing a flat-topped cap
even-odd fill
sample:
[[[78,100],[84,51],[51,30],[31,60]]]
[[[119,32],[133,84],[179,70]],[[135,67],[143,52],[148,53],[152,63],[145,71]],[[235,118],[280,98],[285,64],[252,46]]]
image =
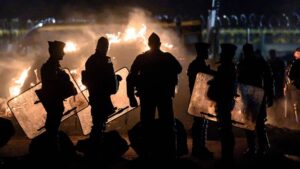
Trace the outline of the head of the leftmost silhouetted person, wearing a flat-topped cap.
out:
[[[66,44],[61,41],[48,41],[50,57],[62,60],[65,55],[64,47]]]

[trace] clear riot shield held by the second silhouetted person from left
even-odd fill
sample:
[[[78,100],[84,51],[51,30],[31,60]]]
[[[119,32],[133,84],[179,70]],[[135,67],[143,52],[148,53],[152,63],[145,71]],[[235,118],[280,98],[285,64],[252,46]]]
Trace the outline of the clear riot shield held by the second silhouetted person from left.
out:
[[[120,75],[122,77],[122,80],[119,83],[118,92],[111,96],[112,103],[115,106],[115,112],[108,117],[107,123],[117,119],[118,117],[134,109],[134,107],[130,107],[129,100],[127,97],[126,78],[128,76],[128,73],[129,71],[127,68],[122,68],[116,71],[116,75]],[[82,93],[86,96],[86,98],[88,98],[89,93],[87,90],[84,90]],[[138,105],[139,105],[139,100],[138,100]],[[88,106],[87,108],[79,112],[78,117],[80,120],[83,134],[84,135],[89,134],[92,128],[91,107]]]

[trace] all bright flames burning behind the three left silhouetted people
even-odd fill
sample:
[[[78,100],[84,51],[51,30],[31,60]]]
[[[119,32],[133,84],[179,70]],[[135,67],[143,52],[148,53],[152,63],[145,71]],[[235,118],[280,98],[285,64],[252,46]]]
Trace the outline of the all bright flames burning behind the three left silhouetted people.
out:
[[[138,44],[138,46],[140,47],[141,51],[146,51],[149,50],[148,47],[148,35],[150,33],[152,33],[153,30],[151,30],[151,32],[148,30],[146,24],[142,23],[142,24],[128,24],[127,27],[122,30],[122,31],[116,31],[116,33],[104,33],[105,36],[108,38],[109,43],[111,46],[113,46],[114,44]],[[96,34],[95,34],[96,35]],[[75,37],[76,38],[76,37]],[[92,39],[90,39],[90,41],[95,41],[95,38],[98,38],[98,36],[93,37]],[[66,46],[64,48],[64,52],[66,53],[66,56],[68,54],[77,54],[76,52],[81,52],[82,49],[84,49],[83,47],[80,47],[82,45],[77,44],[77,40],[71,40],[69,38],[66,38],[65,43]],[[162,40],[162,44],[161,44],[162,50],[172,50],[174,49],[174,45],[170,42],[168,42],[168,40]],[[78,68],[72,69],[71,70],[71,74],[74,77],[75,81],[77,82],[77,84],[79,85],[80,90],[85,90],[86,86],[84,86],[81,83],[81,75],[80,72],[82,70],[82,65],[84,65],[84,61],[82,61],[82,64],[78,65]],[[24,70],[22,70],[20,72],[20,75],[17,76],[16,78],[13,78],[13,83],[11,84],[11,86],[9,87],[9,93],[10,93],[10,97],[15,97],[18,96],[23,90],[22,86],[24,85],[24,82],[28,76],[28,73],[30,71],[31,67],[25,68]],[[35,75],[37,76],[37,72],[35,71]],[[36,84],[36,82],[35,82]],[[34,85],[34,84],[32,84]],[[31,85],[31,86],[32,86]]]

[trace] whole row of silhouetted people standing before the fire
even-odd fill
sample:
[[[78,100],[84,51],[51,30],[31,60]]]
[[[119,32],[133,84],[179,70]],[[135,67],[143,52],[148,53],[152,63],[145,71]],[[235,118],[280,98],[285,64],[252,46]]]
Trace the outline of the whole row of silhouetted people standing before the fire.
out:
[[[59,126],[64,112],[64,100],[77,94],[69,75],[61,68],[60,61],[64,57],[65,43],[61,41],[49,41],[49,59],[41,67],[42,88],[36,91],[47,115],[45,122],[46,132],[43,141],[46,141],[47,153],[62,153],[65,151],[61,143],[66,138],[59,133]],[[137,107],[140,103],[141,125],[141,153],[142,159],[158,158],[160,160],[176,159],[177,135],[175,132],[175,116],[173,111],[173,98],[178,84],[178,75],[182,72],[182,66],[171,53],[160,49],[161,40],[156,33],[152,33],[148,39],[149,50],[139,54],[133,61],[126,78],[127,96],[131,107]],[[208,60],[210,44],[198,42],[195,44],[196,58],[189,64],[187,76],[189,91],[193,93],[195,80],[198,73],[211,75],[213,78],[209,85],[207,96],[215,102],[215,111],[221,142],[222,164],[234,166],[235,139],[232,131],[231,112],[235,106],[238,83],[254,86],[264,91],[258,115],[256,117],[255,130],[246,130],[248,148],[245,155],[248,157],[265,156],[270,143],[266,132],[267,107],[273,105],[273,100],[284,97],[285,87],[289,79],[290,84],[300,89],[300,50],[294,52],[294,61],[289,66],[276,56],[275,50],[269,51],[270,60],[266,61],[261,54],[254,52],[250,43],[243,45],[242,58],[239,63],[234,63],[237,46],[234,44],[221,44],[220,60],[217,69],[214,70],[206,63]],[[115,74],[112,60],[107,56],[109,41],[100,37],[95,53],[85,63],[82,71],[82,83],[87,86],[89,92],[89,104],[91,105],[92,129],[88,138],[93,146],[103,144],[108,116],[115,112],[111,95],[118,91],[119,81],[122,78]],[[287,78],[288,76],[288,78]],[[275,86],[274,86],[275,85]],[[205,91],[199,91],[205,92]],[[139,98],[139,101],[137,100]],[[297,100],[297,96],[294,96]],[[294,109],[299,106],[295,101]],[[153,131],[156,122],[156,109],[161,131],[159,135],[163,145],[159,151],[153,151]],[[207,113],[207,112],[204,112]],[[193,117],[192,125],[192,155],[200,159],[213,159],[214,155],[207,146],[208,120],[202,117]],[[39,139],[36,139],[39,140]],[[40,152],[36,140],[32,143],[33,153]],[[65,139],[66,140],[66,139]],[[71,142],[70,144],[71,145]],[[72,147],[72,146],[70,146]],[[70,148],[71,150],[72,148]],[[95,149],[94,151],[98,151]],[[40,152],[42,153],[42,152]],[[153,154],[156,153],[156,154]],[[52,156],[53,158],[57,158]],[[59,159],[61,160],[61,159]],[[51,165],[50,165],[51,166]],[[53,167],[53,166],[51,166]]]

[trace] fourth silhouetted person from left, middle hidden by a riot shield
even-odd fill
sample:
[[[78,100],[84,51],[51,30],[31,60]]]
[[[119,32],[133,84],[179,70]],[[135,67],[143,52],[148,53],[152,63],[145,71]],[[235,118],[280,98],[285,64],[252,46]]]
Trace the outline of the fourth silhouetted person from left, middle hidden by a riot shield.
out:
[[[208,59],[209,46],[207,43],[195,44],[197,56],[196,59],[190,63],[187,71],[190,93],[193,92],[196,76],[199,72],[209,75],[215,74],[215,71],[210,69],[210,66],[205,63],[205,60]],[[206,147],[207,126],[208,120],[201,117],[194,117],[192,126],[192,155],[199,158],[211,159],[213,158],[213,153]]]

